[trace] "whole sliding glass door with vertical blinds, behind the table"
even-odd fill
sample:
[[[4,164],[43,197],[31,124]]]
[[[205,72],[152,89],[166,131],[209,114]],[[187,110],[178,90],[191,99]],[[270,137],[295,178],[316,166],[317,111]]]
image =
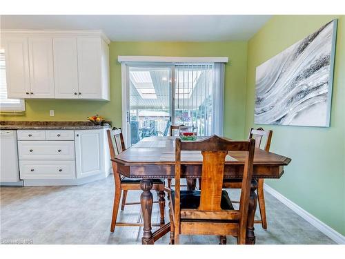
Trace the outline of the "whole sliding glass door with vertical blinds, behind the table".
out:
[[[123,64],[126,144],[168,136],[170,125],[197,126],[203,136],[221,135],[223,92],[216,68],[216,64]]]

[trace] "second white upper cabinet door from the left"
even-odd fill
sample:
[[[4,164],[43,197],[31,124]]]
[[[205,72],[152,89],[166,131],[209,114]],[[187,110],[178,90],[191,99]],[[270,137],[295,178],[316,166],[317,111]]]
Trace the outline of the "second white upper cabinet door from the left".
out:
[[[54,98],[52,38],[29,37],[31,98]]]

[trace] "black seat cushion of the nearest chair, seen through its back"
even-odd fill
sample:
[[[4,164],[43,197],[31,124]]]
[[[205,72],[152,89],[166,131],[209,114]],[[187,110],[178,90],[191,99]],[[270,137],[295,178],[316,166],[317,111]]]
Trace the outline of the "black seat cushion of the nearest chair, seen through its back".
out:
[[[201,191],[180,191],[181,209],[197,209],[200,204]],[[171,201],[175,206],[175,191],[171,191]],[[221,191],[221,209],[234,209],[226,191]]]

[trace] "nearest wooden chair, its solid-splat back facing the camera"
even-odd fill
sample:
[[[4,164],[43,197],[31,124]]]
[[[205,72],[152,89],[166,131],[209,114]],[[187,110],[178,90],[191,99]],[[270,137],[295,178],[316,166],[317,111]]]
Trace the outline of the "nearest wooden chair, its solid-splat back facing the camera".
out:
[[[196,142],[176,139],[175,191],[170,191],[170,244],[179,243],[179,235],[235,236],[237,244],[246,243],[250,183],[253,175],[255,140],[231,141],[213,135]],[[203,156],[201,191],[181,191],[181,151],[201,151]],[[239,209],[235,210],[228,193],[222,189],[224,163],[228,151],[246,153]]]

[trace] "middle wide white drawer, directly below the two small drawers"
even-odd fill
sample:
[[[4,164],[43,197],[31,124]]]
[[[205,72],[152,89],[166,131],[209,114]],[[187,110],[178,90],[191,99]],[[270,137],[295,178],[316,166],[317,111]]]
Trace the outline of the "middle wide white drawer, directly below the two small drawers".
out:
[[[74,160],[74,141],[19,141],[19,160]]]

